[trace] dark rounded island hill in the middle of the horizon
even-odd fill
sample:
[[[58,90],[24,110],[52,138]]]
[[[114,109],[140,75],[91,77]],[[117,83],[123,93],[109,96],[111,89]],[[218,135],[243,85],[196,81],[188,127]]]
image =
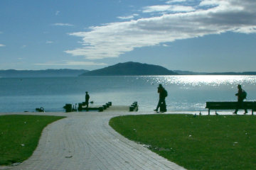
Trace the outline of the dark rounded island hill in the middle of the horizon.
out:
[[[85,72],[81,76],[142,76],[142,75],[177,75],[164,67],[139,62],[124,62]]]

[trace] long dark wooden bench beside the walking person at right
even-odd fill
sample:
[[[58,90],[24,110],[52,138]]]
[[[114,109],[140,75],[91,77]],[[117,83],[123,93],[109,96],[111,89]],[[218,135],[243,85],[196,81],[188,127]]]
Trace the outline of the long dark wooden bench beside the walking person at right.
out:
[[[235,110],[237,108],[237,101],[207,101],[206,108],[208,108],[208,115],[210,115],[210,110]],[[244,101],[239,109],[251,109],[252,115],[253,111],[256,111],[256,101]]]

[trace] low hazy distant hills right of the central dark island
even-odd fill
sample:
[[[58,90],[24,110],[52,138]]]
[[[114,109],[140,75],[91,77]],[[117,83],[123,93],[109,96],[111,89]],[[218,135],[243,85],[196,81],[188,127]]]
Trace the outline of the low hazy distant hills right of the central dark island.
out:
[[[174,72],[181,75],[256,75],[256,72],[190,72],[174,70]]]

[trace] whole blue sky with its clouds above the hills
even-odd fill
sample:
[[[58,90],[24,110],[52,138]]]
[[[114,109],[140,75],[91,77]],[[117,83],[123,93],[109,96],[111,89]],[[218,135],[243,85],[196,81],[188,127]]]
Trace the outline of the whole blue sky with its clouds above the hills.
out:
[[[256,72],[255,0],[1,0],[0,69]]]

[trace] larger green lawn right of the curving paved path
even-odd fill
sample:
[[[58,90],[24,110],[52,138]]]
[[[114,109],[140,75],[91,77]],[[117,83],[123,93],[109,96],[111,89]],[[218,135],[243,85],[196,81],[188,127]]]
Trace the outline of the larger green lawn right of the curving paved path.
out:
[[[186,169],[256,169],[253,115],[127,115],[110,125]]]

